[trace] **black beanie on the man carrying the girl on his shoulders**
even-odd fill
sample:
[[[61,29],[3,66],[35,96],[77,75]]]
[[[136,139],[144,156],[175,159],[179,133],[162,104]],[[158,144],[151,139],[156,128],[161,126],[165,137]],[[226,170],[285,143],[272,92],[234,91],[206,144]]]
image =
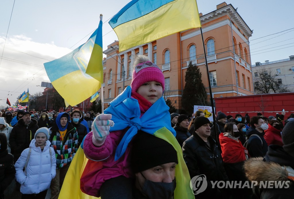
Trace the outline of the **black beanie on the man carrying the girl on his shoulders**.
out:
[[[177,151],[167,141],[143,131],[133,139],[131,167],[138,173],[158,165],[178,163]]]

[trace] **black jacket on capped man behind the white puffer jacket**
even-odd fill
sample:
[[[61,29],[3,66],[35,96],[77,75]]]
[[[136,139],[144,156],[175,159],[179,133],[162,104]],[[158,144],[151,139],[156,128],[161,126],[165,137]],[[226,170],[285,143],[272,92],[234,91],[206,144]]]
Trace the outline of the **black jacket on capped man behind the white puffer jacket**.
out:
[[[31,140],[34,139],[38,128],[35,119],[31,119],[29,126],[24,124],[23,118],[17,121],[17,124],[11,130],[9,136],[9,145],[11,147],[11,153],[14,155],[14,163],[20,157],[21,152],[26,148],[29,148]]]

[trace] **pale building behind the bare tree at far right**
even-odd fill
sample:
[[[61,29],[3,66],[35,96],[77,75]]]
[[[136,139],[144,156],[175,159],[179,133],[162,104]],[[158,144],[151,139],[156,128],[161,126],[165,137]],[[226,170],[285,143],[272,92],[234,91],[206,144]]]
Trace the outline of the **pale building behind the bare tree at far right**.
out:
[[[253,82],[257,83],[260,72],[275,75],[280,85],[285,86],[290,92],[294,91],[294,55],[277,61],[256,62],[252,65]]]

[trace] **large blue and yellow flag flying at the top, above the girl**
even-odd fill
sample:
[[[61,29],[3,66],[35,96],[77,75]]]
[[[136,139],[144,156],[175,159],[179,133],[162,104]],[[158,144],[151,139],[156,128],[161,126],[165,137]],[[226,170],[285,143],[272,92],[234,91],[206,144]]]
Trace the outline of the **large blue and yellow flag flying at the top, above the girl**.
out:
[[[133,0],[108,22],[119,51],[201,27],[196,0]]]

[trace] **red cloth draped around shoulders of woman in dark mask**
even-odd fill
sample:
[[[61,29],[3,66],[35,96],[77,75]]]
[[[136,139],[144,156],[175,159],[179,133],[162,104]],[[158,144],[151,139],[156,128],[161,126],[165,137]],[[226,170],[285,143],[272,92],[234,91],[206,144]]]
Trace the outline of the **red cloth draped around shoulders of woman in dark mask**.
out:
[[[244,150],[241,141],[233,140],[227,136],[223,136],[223,133],[219,135],[220,147],[222,150],[223,162],[225,163],[238,163],[246,160]]]

